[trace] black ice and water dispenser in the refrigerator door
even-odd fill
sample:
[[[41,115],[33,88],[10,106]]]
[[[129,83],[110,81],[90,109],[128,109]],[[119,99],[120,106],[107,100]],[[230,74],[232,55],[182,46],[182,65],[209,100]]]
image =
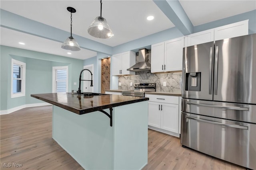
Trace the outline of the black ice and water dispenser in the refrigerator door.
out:
[[[186,74],[186,91],[200,91],[201,88],[201,72],[189,72]]]

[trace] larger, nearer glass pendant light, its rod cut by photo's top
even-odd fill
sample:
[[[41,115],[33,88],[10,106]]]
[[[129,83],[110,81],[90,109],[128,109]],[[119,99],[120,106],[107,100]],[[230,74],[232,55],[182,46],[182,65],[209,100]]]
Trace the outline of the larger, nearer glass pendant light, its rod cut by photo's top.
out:
[[[112,37],[112,31],[105,18],[101,16],[102,0],[100,0],[100,16],[91,23],[87,32],[96,38],[106,39]]]

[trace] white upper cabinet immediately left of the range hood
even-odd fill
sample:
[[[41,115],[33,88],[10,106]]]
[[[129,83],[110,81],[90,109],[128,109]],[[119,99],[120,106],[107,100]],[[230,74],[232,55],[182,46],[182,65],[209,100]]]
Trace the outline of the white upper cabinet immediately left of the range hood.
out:
[[[133,66],[136,62],[136,54],[133,51],[127,51],[124,53],[116,54],[112,56],[113,66],[112,66],[112,75],[135,75],[135,72],[127,71],[128,68]]]

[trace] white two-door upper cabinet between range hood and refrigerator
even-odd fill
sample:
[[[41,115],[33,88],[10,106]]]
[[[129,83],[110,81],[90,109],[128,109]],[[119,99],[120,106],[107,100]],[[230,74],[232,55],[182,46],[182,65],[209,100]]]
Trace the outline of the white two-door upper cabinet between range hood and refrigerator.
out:
[[[184,37],[151,45],[151,72],[182,70]]]

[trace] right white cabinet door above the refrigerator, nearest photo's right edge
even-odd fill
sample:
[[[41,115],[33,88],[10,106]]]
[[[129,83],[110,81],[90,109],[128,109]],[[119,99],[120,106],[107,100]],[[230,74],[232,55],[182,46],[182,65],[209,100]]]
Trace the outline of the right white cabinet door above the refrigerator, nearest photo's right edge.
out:
[[[244,20],[214,28],[214,40],[217,41],[220,39],[248,35],[248,21],[249,20]]]

